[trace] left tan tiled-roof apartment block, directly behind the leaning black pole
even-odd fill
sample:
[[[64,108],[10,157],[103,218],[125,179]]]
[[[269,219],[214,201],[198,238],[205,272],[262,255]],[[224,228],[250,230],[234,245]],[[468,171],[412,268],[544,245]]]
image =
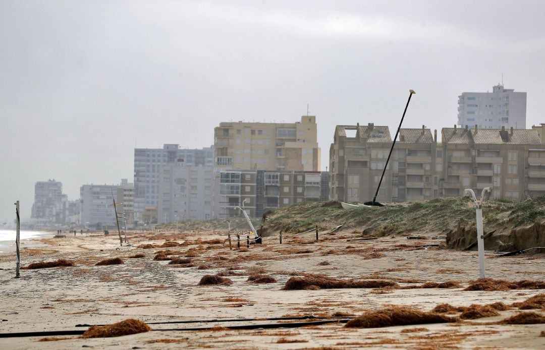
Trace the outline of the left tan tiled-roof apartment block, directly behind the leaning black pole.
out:
[[[341,125],[330,147],[331,198],[348,202],[370,201],[392,146],[387,126]],[[377,194],[378,201],[404,201],[437,197],[435,175],[437,134],[429,129],[405,128],[398,141]]]

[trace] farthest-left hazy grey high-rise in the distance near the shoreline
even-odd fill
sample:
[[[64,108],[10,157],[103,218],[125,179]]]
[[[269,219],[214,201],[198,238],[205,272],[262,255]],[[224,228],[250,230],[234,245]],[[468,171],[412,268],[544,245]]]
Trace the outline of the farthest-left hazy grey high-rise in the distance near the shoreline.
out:
[[[31,223],[39,226],[63,224],[68,199],[63,195],[63,184],[59,181],[38,181],[34,185],[34,204]]]

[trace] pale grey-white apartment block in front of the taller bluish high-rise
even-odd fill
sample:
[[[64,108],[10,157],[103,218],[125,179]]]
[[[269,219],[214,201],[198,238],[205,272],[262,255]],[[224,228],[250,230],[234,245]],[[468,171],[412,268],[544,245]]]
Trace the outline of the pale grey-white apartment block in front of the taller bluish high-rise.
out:
[[[212,165],[189,166],[184,162],[161,165],[159,173],[160,223],[207,220],[213,213]]]

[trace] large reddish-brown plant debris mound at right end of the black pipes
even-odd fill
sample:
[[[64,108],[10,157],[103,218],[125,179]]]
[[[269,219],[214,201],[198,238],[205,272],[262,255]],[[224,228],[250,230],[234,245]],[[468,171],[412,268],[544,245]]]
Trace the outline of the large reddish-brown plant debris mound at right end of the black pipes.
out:
[[[409,324],[457,322],[457,317],[448,317],[436,312],[418,311],[409,308],[387,308],[365,312],[346,323],[348,328],[378,328],[407,326]]]

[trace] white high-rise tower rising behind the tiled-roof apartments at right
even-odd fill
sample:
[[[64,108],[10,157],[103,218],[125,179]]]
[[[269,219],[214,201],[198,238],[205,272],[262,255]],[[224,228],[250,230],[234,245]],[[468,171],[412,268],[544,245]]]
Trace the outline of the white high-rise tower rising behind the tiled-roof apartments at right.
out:
[[[458,126],[481,129],[526,128],[526,93],[498,84],[492,92],[458,96]]]

